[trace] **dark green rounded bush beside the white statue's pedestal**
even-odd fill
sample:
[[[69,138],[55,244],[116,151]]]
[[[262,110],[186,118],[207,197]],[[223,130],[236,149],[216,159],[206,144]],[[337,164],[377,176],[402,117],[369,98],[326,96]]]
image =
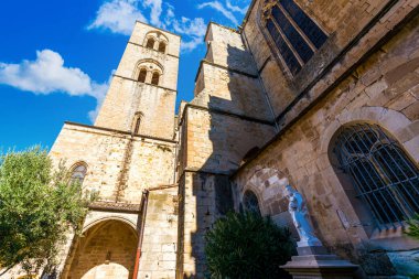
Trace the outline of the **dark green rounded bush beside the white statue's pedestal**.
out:
[[[228,213],[205,235],[211,278],[288,278],[279,266],[294,255],[286,227],[255,213]]]

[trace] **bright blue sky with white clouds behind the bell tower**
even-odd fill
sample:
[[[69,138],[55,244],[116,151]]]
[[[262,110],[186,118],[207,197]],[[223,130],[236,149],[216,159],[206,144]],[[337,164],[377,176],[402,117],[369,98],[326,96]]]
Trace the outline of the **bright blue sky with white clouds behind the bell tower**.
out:
[[[0,150],[51,148],[63,121],[92,125],[136,19],[182,35],[178,104],[191,100],[206,24],[236,28],[249,2],[3,1]]]

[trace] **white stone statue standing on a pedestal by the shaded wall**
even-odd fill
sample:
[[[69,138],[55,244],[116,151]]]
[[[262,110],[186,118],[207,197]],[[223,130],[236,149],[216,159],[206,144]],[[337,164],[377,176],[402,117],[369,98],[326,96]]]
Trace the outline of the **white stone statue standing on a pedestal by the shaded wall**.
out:
[[[305,201],[291,185],[288,179],[282,179],[281,184],[284,186],[284,195],[289,200],[288,211],[292,216],[292,221],[300,236],[300,242],[297,243],[298,247],[305,246],[322,246],[322,243],[314,235],[314,229],[310,224],[309,214]]]

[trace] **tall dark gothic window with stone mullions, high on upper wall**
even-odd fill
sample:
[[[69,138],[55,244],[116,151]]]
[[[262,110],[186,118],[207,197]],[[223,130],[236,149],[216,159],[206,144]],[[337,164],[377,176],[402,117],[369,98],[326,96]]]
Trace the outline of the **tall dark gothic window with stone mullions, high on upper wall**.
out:
[[[265,0],[262,24],[292,75],[298,74],[327,35],[292,0]]]

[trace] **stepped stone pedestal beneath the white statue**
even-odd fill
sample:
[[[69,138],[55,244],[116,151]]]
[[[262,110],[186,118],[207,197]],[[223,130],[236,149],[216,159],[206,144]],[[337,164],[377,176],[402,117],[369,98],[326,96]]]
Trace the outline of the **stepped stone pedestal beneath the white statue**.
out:
[[[323,246],[305,246],[297,248],[299,256],[281,266],[293,279],[352,279],[358,268],[347,260],[331,255]]]

